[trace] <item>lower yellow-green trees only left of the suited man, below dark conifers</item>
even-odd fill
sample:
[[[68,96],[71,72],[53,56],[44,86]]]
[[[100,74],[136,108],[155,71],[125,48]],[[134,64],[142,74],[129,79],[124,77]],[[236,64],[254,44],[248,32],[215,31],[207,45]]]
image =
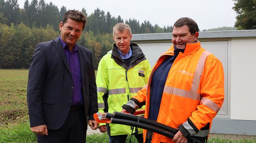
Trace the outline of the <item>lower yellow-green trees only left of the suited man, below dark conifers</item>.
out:
[[[28,68],[38,42],[56,38],[53,27],[28,28],[24,24],[0,24],[0,68]]]

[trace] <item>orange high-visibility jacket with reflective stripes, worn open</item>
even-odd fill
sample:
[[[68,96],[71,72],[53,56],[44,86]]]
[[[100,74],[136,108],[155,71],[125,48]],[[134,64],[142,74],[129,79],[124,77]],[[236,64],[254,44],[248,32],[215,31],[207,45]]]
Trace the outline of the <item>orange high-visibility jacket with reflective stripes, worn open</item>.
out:
[[[133,96],[139,103],[146,100],[145,118],[148,118],[149,114],[152,75],[166,59],[166,55],[172,56],[173,51],[174,47],[171,46],[159,57],[150,74],[148,85]],[[191,136],[207,138],[212,119],[220,110],[223,100],[222,63],[213,54],[203,49],[200,42],[186,44],[184,53],[179,53],[168,73],[157,122],[173,128],[183,124]],[[138,105],[135,104],[133,108],[138,108]],[[146,134],[147,131],[143,130],[144,142]],[[152,143],[159,142],[172,143],[173,141],[153,133]]]

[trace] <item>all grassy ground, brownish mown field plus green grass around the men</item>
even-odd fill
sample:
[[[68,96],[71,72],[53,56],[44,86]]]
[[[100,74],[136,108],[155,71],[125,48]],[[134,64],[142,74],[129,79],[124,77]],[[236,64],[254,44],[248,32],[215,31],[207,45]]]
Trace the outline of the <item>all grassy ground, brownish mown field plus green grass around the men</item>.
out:
[[[30,131],[28,120],[27,75],[27,69],[0,69],[0,143],[36,142],[36,134]],[[133,137],[131,142],[136,143],[136,139]],[[256,139],[210,138],[208,142],[256,143]],[[106,133],[88,135],[86,143],[108,143],[108,136]]]

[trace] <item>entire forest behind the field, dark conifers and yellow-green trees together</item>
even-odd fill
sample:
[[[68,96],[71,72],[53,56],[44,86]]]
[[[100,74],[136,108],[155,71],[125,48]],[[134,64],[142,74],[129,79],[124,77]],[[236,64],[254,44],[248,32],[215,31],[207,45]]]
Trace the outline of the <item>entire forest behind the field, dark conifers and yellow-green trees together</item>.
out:
[[[66,11],[65,6],[59,10],[52,2],[44,0],[25,0],[22,9],[18,0],[0,0],[0,68],[29,68],[36,44],[53,40],[60,34],[59,23]],[[90,15],[84,8],[81,12],[88,17],[88,23],[78,44],[93,52],[95,69],[100,59],[112,49],[115,24],[128,24],[133,34],[173,30],[172,26],[161,28],[148,20],[142,23],[134,18],[124,21],[120,15],[114,17],[99,8]]]

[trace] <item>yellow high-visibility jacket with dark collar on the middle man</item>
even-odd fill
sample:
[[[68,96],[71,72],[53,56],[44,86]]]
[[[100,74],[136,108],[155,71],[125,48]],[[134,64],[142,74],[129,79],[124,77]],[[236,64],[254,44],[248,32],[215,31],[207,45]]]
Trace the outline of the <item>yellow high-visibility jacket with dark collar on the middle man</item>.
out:
[[[116,44],[100,60],[96,76],[98,112],[120,112],[121,106],[148,82],[151,72],[149,61],[136,43],[130,42],[130,47],[132,60],[129,67],[121,59]],[[107,131],[109,135],[131,134],[131,127],[109,124]],[[142,129],[137,132],[142,133]]]

